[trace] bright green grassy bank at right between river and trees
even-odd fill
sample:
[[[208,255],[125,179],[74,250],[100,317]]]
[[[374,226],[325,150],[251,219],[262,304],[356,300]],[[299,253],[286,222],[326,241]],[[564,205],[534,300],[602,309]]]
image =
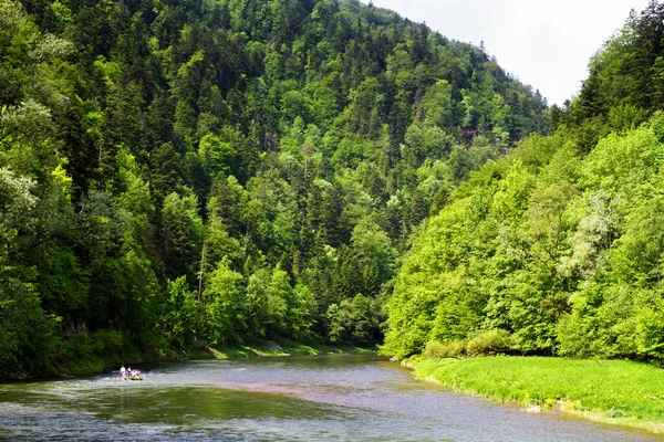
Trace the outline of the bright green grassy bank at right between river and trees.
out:
[[[460,392],[664,433],[664,370],[645,364],[499,356],[408,365],[417,377]]]

